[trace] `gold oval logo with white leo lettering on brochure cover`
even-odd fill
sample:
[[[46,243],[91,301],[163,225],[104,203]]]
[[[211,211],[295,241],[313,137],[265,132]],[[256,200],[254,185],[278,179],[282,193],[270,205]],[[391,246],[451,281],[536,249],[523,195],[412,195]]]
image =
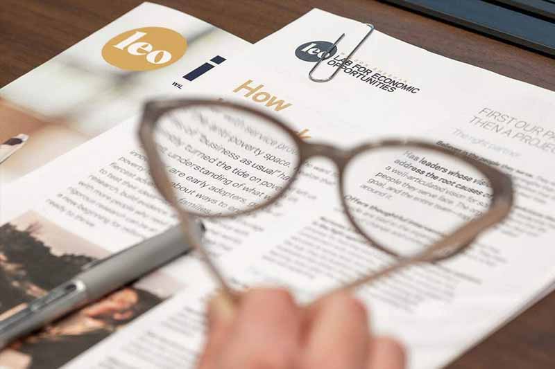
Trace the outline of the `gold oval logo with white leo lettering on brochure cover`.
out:
[[[187,40],[175,30],[143,27],[110,39],[102,48],[102,57],[121,69],[151,71],[177,62],[186,49]]]

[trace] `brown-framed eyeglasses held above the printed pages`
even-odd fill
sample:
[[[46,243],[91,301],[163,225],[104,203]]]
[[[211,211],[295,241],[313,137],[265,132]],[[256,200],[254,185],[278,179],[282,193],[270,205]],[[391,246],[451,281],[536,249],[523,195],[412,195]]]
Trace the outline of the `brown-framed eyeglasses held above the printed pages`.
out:
[[[456,255],[504,219],[513,202],[511,178],[463,150],[411,140],[343,150],[307,142],[275,116],[221,100],[148,102],[139,136],[155,186],[177,210],[187,241],[230,296],[232,289],[191,231],[193,222],[272,206],[299,177],[301,166],[316,156],[330,159],[337,177],[311,165],[302,176],[313,181],[309,188],[317,192],[335,178],[352,228],[369,247],[395,260],[341,289]],[[310,206],[315,200],[303,201]]]

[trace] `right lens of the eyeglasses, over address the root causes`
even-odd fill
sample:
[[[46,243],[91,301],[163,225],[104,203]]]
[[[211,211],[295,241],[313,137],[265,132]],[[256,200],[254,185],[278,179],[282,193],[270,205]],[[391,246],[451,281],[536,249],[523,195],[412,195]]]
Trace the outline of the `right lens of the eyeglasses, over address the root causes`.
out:
[[[420,253],[476,219],[492,197],[475,166],[409,145],[361,152],[346,166],[343,183],[345,206],[360,231],[402,256]]]

